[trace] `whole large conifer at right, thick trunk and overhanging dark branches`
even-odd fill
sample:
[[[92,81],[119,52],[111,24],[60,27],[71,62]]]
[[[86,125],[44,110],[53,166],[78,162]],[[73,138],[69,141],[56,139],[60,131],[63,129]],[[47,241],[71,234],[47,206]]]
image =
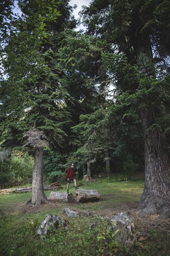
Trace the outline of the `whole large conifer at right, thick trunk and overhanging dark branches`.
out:
[[[103,62],[120,96],[117,104],[140,111],[145,188],[139,208],[162,218],[170,216],[170,159],[164,134],[170,113],[169,12],[167,0],[93,0],[82,12],[88,34],[107,40]]]

